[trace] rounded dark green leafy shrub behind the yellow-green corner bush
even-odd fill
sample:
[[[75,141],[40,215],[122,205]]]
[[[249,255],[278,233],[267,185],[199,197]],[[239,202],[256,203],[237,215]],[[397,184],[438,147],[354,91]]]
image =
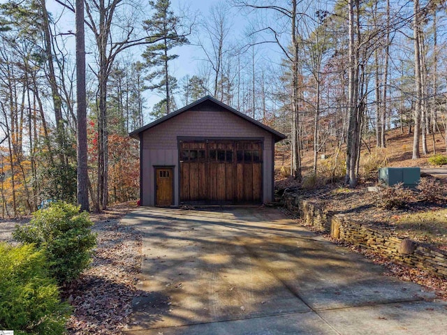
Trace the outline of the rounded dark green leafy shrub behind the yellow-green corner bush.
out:
[[[66,202],[53,202],[33,214],[29,225],[17,226],[13,236],[18,241],[43,248],[50,271],[59,284],[69,283],[89,266],[96,235],[87,212]]]

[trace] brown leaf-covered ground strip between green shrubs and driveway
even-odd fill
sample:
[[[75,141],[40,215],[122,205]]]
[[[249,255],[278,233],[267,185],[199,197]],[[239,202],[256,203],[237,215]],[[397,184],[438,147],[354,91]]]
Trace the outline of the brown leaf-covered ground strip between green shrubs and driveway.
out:
[[[91,214],[98,234],[91,267],[63,295],[73,306],[68,334],[121,334],[132,312],[142,260],[141,236],[120,218],[133,209],[121,204]]]

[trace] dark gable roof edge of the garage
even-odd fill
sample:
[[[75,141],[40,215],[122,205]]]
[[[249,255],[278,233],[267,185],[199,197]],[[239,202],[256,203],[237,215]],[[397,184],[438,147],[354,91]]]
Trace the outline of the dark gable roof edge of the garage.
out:
[[[164,121],[168,121],[169,119],[172,119],[173,117],[176,117],[178,114],[182,114],[183,112],[186,112],[187,110],[192,110],[193,107],[197,107],[198,105],[205,103],[207,101],[210,101],[225,110],[228,110],[228,112],[232,112],[233,114],[237,115],[237,117],[242,117],[242,119],[246,119],[247,121],[251,122],[251,124],[254,124],[255,126],[258,126],[260,128],[263,128],[265,131],[268,131],[268,133],[271,133],[274,137],[274,142],[279,142],[280,140],[284,140],[286,138],[286,135],[279,133],[278,131],[275,131],[274,129],[270,128],[269,126],[265,126],[265,124],[261,124],[261,122],[256,121],[255,119],[252,119],[251,117],[248,117],[245,114],[242,114],[241,112],[235,110],[234,108],[221,103],[221,101],[218,101],[217,99],[213,98],[212,96],[205,96],[198,101],[195,101],[183,108],[180,108],[179,110],[176,110],[175,112],[172,112],[165,117],[161,117],[160,119],[156,119],[155,121],[151,122],[150,124],[147,124],[146,126],[142,126],[141,128],[136,129],[135,131],[129,133],[129,135],[133,138],[136,138],[137,140],[140,139],[140,133],[143,131],[147,131],[150,128],[153,128],[154,126],[157,126]]]

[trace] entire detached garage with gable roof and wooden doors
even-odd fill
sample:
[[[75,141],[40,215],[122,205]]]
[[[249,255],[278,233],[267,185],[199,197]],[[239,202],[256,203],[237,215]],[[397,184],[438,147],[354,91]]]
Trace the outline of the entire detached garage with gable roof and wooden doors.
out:
[[[273,200],[274,143],[285,136],[211,96],[130,135],[140,140],[143,206]]]

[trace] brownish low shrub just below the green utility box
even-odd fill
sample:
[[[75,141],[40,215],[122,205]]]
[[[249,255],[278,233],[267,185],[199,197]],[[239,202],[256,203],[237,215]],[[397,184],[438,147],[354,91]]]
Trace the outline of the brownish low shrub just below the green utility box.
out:
[[[404,188],[403,183],[394,186],[381,186],[374,193],[374,205],[385,209],[404,208],[413,200],[413,191]]]

